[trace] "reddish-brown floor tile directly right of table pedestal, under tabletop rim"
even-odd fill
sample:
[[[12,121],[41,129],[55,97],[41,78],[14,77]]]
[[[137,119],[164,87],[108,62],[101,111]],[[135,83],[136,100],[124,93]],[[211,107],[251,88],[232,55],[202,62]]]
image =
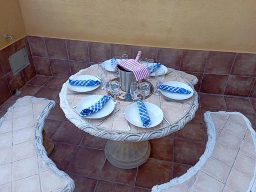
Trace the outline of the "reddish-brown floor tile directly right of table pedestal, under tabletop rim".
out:
[[[151,139],[150,157],[155,159],[173,161],[173,142],[174,139],[170,137]]]

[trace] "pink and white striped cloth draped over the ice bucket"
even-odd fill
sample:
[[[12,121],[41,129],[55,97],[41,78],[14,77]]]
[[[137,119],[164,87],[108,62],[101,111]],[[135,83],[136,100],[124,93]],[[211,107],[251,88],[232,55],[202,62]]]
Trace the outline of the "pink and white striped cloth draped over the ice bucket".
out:
[[[134,59],[122,60],[118,62],[117,65],[120,65],[125,70],[132,71],[135,75],[136,81],[141,81],[142,79],[150,76],[147,68]],[[117,65],[115,66],[115,71],[117,71]]]

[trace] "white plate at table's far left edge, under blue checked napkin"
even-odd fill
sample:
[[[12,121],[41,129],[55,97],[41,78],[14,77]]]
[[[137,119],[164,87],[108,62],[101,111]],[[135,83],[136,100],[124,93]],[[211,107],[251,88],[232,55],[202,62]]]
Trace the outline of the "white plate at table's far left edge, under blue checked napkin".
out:
[[[100,81],[99,78],[97,78],[95,76],[90,76],[90,75],[75,76],[74,78],[72,78],[72,80],[88,80],[88,79],[92,79],[94,81]],[[98,88],[99,86],[100,85],[95,85],[95,86],[70,85],[68,83],[69,89],[72,91],[76,91],[76,92],[92,91],[92,90]]]

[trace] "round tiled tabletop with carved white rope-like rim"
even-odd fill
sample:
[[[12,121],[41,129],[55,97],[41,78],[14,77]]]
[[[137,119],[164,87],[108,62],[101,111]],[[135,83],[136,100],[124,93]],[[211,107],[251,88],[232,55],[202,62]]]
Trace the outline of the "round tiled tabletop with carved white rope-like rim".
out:
[[[89,95],[101,94],[105,95],[106,91],[97,88],[90,93],[77,93],[68,88],[68,81],[62,85],[62,89],[59,93],[60,107],[65,113],[66,117],[79,129],[90,133],[96,137],[116,140],[116,141],[144,141],[153,138],[163,137],[175,131],[182,129],[186,123],[190,122],[195,116],[195,112],[198,109],[198,94],[194,89],[194,85],[198,82],[198,79],[193,76],[186,74],[182,71],[178,71],[172,68],[168,68],[172,71],[164,77],[164,82],[167,81],[179,81],[189,85],[194,90],[193,97],[187,100],[168,100],[163,95],[152,94],[145,101],[153,103],[161,108],[164,116],[167,118],[170,125],[165,120],[156,127],[153,128],[139,128],[129,123],[131,131],[127,128],[127,121],[122,113],[123,109],[131,104],[131,102],[120,101],[116,109],[120,110],[110,115],[108,119],[100,126],[97,124],[103,119],[89,119],[79,116],[76,111],[77,103]],[[82,69],[74,76],[77,75],[94,75],[97,74],[97,65],[92,65],[89,68]],[[108,72],[108,77],[114,79],[114,73]],[[155,86],[155,78],[151,77],[151,83]],[[74,93],[70,95],[69,93]]]

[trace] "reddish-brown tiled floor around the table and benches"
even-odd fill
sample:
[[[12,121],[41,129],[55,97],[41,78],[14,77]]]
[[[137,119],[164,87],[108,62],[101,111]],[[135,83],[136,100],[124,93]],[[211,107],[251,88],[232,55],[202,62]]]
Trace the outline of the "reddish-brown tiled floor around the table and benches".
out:
[[[19,97],[34,95],[57,103],[45,124],[48,137],[55,143],[50,158],[75,180],[75,191],[145,192],[155,184],[184,174],[204,152],[204,111],[240,111],[256,128],[256,99],[200,94],[200,107],[190,123],[176,133],[150,140],[150,159],[137,169],[122,170],[105,159],[106,139],[79,130],[65,118],[58,105],[58,93],[65,81],[63,78],[37,75],[21,89],[23,92]],[[17,98],[13,96],[0,106],[0,115],[4,115]]]

